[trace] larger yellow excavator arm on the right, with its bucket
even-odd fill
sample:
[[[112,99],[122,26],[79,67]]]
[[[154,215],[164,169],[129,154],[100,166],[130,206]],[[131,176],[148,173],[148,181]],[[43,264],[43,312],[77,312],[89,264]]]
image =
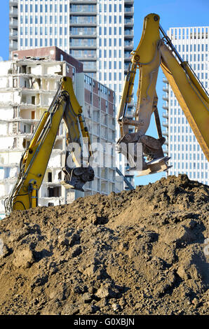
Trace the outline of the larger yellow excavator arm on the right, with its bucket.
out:
[[[163,70],[191,125],[205,157],[209,160],[209,98],[203,85],[187,62],[183,62],[170,38],[159,25],[159,15],[149,14],[144,18],[142,37],[137,49],[132,52],[131,64],[123,85],[121,104],[117,113],[120,125],[119,153],[128,158],[130,169],[139,176],[168,170],[168,157],[163,154],[163,143],[159,113],[157,109],[156,80],[159,66]],[[163,38],[161,38],[163,34]],[[137,105],[133,118],[126,116],[128,103],[132,100],[135,76],[139,70]],[[151,115],[154,113],[159,138],[147,136]],[[135,127],[129,133],[128,127]],[[130,145],[134,148],[130,148]],[[136,145],[141,144],[142,148]],[[136,152],[141,150],[142,154]],[[147,157],[147,162],[144,160]],[[141,158],[142,163],[137,162]]]

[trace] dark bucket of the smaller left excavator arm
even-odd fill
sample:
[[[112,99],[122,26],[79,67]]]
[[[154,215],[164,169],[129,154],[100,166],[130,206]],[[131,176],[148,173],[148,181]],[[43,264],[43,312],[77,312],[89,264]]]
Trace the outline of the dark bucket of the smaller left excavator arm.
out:
[[[90,166],[76,168],[64,167],[62,171],[65,173],[64,181],[61,182],[62,185],[65,188],[72,188],[82,192],[84,192],[83,185],[88,181],[93,181],[95,176],[93,168]]]

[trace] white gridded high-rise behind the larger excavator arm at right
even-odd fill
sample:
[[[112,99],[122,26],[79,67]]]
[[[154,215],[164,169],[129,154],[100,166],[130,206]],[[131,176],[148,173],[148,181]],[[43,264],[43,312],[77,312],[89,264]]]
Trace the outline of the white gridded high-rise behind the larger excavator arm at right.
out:
[[[175,27],[167,31],[182,59],[189,62],[207,91],[209,91],[208,29],[209,27]],[[171,157],[170,165],[173,165],[168,170],[168,175],[184,173],[189,179],[208,184],[208,160],[201,151],[166,78],[164,78],[164,82],[163,99],[165,103],[163,109],[166,111],[163,113],[163,118],[166,120],[164,120],[163,126],[166,127],[166,130],[163,133],[167,138],[166,153]]]

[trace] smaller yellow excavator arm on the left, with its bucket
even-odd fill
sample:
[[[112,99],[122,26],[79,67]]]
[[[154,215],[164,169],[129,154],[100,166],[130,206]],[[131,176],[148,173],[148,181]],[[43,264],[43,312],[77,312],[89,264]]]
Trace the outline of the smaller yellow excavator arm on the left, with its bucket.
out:
[[[65,167],[62,168],[65,172],[64,185],[67,188],[83,190],[84,183],[93,181],[94,172],[92,167],[89,166],[92,152],[88,129],[82,116],[81,106],[74,94],[72,79],[64,77],[50,108],[43,113],[30,141],[29,148],[22,155],[20,174],[5,202],[6,214],[13,210],[24,210],[38,205],[38,191],[46,172],[62,118],[67,128],[67,144],[69,146]],[[83,139],[87,139],[88,144],[88,160],[85,166],[83,166],[81,135]],[[73,147],[70,147],[71,145]],[[76,152],[74,152],[75,145],[78,146]],[[74,168],[67,166],[69,153],[72,155]]]

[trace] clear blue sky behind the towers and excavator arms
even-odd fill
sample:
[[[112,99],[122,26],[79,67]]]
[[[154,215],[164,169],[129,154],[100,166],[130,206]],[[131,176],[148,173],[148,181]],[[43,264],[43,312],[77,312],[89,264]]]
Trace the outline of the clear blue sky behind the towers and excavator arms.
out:
[[[189,27],[209,25],[209,0],[135,0],[134,5],[134,48],[140,41],[142,34],[143,20],[149,13],[156,13],[160,16],[160,24],[164,31],[169,27]],[[0,57],[8,59],[8,0],[1,0],[0,11]],[[156,90],[159,96],[159,113],[162,115],[162,73],[159,72],[159,79]],[[135,81],[137,86],[137,81]],[[135,88],[136,90],[136,88]],[[162,121],[162,120],[161,120]],[[154,122],[151,120],[151,127],[147,134],[156,137],[156,130],[153,128]],[[143,176],[135,180],[136,185],[143,185],[160,179],[163,174],[152,174]]]

